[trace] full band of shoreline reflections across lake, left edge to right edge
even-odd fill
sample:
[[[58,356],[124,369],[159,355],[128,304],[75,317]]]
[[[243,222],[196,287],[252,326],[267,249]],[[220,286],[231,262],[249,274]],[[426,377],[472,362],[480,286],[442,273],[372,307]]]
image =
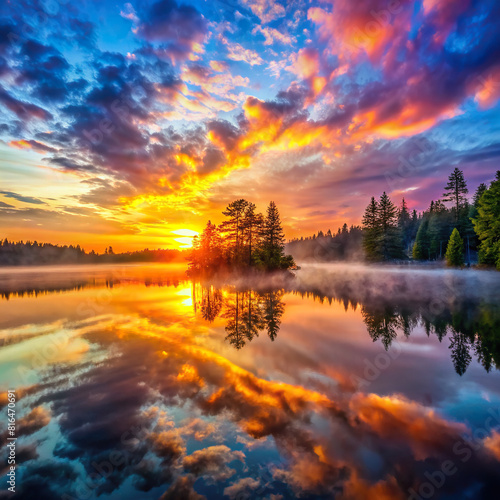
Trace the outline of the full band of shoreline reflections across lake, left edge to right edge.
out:
[[[399,334],[409,337],[415,328],[423,327],[427,336],[435,335],[439,342],[445,337],[450,339],[450,356],[459,375],[467,371],[473,355],[487,372],[500,367],[500,304],[495,292],[485,289],[481,294],[479,288],[471,296],[463,293],[464,286],[458,282],[453,283],[455,292],[452,300],[444,301],[440,294],[446,287],[442,281],[434,281],[427,293],[415,298],[406,293],[408,284],[405,277],[398,277],[397,286],[391,288],[391,293],[376,296],[370,293],[360,296],[360,289],[370,289],[373,285],[366,277],[362,284],[344,279],[326,289],[307,286],[307,281],[304,286],[304,283],[290,280],[278,289],[262,288],[261,284],[246,288],[241,285],[220,287],[192,283],[191,295],[195,313],[199,313],[205,321],[213,322],[218,317],[225,319],[226,341],[235,349],[243,348],[264,331],[274,341],[286,307],[283,297],[286,293],[293,293],[320,303],[337,302],[346,311],[359,308],[368,334],[374,342],[381,342],[386,350],[390,349]],[[131,283],[141,283],[146,287],[178,287],[189,282],[182,273],[173,276],[148,273],[138,279],[123,269],[118,273],[90,273],[85,277],[71,273],[56,277],[29,273],[24,279],[4,277],[0,281],[0,296],[9,300],[11,297],[38,297]],[[498,284],[497,290],[500,292]]]

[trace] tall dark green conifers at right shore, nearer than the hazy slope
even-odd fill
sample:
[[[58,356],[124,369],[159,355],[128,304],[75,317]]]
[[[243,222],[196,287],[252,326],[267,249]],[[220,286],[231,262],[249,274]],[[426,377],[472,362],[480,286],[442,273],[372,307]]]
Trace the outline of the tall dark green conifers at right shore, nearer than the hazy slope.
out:
[[[463,266],[477,254],[480,264],[500,269],[500,171],[489,187],[479,185],[472,203],[468,192],[463,172],[455,168],[441,199],[420,215],[414,211],[410,217],[404,199],[397,208],[385,192],[378,201],[372,197],[363,216],[366,258],[444,258],[450,266]]]

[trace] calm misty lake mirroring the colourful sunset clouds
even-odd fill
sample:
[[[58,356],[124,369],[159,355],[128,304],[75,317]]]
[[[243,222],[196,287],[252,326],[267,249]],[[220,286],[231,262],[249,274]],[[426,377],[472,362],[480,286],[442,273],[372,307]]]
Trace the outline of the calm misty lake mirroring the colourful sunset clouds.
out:
[[[0,293],[0,498],[498,498],[500,273],[9,268]]]

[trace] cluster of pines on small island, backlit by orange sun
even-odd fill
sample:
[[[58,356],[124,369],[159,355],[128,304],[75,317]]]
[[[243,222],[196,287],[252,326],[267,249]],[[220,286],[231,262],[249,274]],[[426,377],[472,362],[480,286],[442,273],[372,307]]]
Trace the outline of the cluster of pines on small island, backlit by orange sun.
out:
[[[189,274],[249,268],[273,271],[295,266],[292,256],[285,255],[285,234],[273,201],[265,215],[244,199],[230,203],[222,214],[226,219],[219,226],[208,221],[201,235],[193,238]]]

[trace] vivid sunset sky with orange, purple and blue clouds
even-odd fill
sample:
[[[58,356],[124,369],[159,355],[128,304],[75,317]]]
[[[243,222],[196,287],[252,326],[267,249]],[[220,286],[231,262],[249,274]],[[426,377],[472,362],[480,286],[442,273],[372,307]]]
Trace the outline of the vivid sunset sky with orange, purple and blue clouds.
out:
[[[495,0],[11,0],[0,233],[179,247],[273,200],[288,238],[500,169]]]

